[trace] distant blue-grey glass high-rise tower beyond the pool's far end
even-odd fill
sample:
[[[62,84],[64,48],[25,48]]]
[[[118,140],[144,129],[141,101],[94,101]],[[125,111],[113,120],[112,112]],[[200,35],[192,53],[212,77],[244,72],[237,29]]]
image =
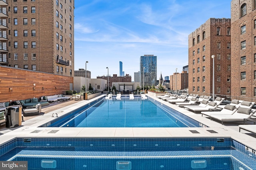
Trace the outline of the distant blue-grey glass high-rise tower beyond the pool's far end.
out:
[[[140,86],[156,86],[157,57],[154,55],[140,56]]]

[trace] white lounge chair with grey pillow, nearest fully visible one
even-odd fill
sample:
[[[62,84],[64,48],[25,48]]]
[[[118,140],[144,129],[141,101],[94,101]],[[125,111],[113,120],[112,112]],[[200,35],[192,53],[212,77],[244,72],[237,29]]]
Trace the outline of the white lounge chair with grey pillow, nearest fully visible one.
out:
[[[239,107],[238,110],[232,115],[211,115],[211,120],[216,119],[221,121],[223,125],[224,121],[244,121],[244,119],[249,119],[255,113],[256,110],[251,108]]]

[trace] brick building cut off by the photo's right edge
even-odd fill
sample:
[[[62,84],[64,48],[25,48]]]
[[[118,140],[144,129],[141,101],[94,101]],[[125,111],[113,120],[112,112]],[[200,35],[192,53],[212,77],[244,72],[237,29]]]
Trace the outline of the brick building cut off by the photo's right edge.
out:
[[[231,2],[231,93],[256,98],[256,1]]]

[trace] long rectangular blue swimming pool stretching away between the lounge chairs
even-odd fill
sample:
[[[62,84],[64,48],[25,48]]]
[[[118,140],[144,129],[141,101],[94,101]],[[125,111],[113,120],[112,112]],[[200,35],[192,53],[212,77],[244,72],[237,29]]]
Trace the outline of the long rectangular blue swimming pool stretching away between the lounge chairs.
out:
[[[201,127],[154,100],[100,100],[41,127]]]

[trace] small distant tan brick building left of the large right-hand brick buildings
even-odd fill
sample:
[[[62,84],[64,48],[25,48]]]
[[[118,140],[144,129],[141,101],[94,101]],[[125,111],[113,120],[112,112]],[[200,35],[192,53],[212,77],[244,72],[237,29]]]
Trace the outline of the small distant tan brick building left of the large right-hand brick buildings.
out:
[[[176,78],[177,78],[177,90],[183,90],[188,88],[188,73],[182,71],[182,73],[170,75],[170,90],[176,90]]]

